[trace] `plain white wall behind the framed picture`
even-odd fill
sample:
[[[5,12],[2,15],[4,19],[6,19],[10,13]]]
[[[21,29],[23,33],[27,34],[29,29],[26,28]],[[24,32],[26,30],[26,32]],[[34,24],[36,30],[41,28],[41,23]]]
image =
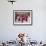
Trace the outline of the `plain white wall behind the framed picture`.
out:
[[[33,10],[32,26],[14,26],[13,10]],[[17,0],[13,5],[0,0],[0,40],[11,40],[26,32],[33,40],[46,40],[46,0]]]

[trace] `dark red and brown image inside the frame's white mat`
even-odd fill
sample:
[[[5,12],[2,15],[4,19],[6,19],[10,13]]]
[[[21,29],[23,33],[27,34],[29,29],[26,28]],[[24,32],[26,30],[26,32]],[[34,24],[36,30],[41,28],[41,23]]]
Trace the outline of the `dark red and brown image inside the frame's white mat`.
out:
[[[28,21],[28,17],[30,17],[30,12],[16,12],[15,13],[15,21],[21,21],[22,23]]]

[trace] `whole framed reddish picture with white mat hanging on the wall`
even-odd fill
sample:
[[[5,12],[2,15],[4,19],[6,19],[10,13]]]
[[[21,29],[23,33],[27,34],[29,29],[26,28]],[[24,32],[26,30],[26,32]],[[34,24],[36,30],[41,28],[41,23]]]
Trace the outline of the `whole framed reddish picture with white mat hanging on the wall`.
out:
[[[13,10],[14,25],[32,25],[32,10]]]

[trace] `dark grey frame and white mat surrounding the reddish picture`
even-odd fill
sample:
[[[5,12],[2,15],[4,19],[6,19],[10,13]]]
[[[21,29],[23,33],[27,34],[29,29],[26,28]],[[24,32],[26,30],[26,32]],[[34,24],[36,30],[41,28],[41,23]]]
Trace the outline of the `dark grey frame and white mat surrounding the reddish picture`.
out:
[[[16,23],[15,16],[16,12],[30,12],[30,23]],[[13,25],[32,25],[33,24],[33,11],[32,10],[13,10]]]

